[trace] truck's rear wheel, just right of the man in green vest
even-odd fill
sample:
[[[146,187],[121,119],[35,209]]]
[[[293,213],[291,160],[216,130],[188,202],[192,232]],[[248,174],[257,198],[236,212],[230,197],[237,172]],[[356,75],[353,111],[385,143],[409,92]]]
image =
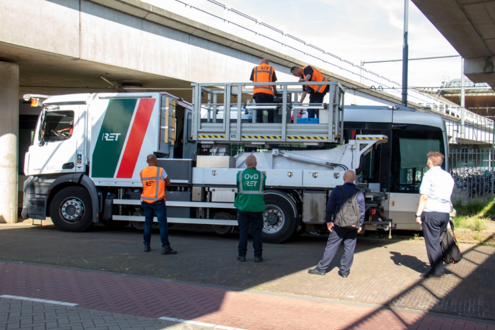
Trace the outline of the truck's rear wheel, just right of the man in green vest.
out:
[[[283,243],[296,233],[295,205],[289,196],[279,191],[265,191],[264,199],[263,242]]]

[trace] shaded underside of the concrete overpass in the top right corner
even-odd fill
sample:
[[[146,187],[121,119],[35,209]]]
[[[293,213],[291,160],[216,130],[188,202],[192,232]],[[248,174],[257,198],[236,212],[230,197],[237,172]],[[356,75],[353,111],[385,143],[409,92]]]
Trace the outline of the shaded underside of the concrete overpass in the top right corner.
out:
[[[412,0],[464,58],[473,83],[495,87],[495,0]]]

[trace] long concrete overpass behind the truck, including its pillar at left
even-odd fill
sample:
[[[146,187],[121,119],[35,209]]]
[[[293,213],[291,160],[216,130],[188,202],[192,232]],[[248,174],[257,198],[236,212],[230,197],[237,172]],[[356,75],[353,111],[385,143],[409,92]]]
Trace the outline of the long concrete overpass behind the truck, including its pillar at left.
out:
[[[284,38],[297,40],[287,34]],[[322,49],[311,47],[303,57],[293,57],[297,47],[274,50],[140,0],[1,1],[0,194],[6,198],[0,201],[0,221],[17,218],[18,100],[23,94],[108,92],[113,85],[142,85],[144,91],[159,89],[191,100],[191,82],[246,81],[251,68],[266,57],[280,81],[293,81],[290,67],[309,63],[347,88],[347,104],[400,103],[398,95],[380,90],[384,77],[366,70],[376,76],[363,76],[363,82],[375,84],[370,88],[325,69],[331,63],[316,54]],[[457,120],[452,104],[418,95],[409,106],[434,104],[430,111]]]

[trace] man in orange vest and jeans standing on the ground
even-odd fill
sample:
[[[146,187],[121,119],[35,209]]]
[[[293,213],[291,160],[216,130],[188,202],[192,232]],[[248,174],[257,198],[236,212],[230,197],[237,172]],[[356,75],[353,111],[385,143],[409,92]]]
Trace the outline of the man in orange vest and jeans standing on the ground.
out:
[[[160,225],[161,254],[177,254],[168,241],[167,205],[165,204],[165,187],[170,185],[170,178],[161,167],[156,166],[156,156],[148,155],[148,167],[139,172],[143,193],[141,207],[145,210],[145,252],[151,251],[151,225],[156,215]]]

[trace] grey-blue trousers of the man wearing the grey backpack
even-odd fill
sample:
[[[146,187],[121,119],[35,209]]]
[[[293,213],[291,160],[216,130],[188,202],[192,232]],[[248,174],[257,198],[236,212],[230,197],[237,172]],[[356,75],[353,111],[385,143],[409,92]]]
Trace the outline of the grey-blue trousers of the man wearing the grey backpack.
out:
[[[340,272],[342,275],[348,275],[350,266],[354,261],[354,249],[356,248],[357,230],[352,228],[343,228],[335,226],[332,233],[328,236],[327,246],[323,253],[323,259],[320,260],[316,269],[325,273],[328,266],[335,257],[340,244],[344,241],[344,255],[341,259]]]

